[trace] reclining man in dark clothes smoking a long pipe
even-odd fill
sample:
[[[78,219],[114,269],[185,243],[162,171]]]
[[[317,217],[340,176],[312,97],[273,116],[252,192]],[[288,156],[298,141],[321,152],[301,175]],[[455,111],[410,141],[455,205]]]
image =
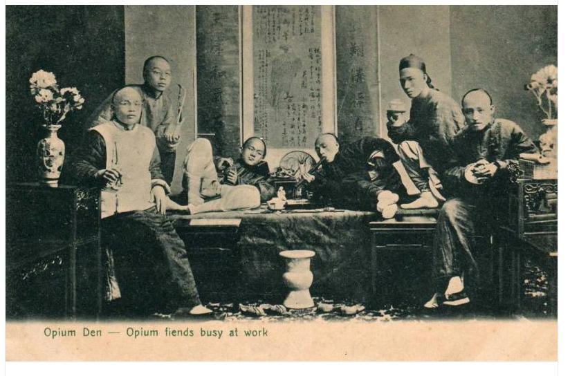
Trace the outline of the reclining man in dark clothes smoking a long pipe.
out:
[[[378,210],[392,218],[400,194],[405,194],[394,163],[398,154],[392,144],[381,138],[365,137],[340,146],[332,133],[315,141],[322,167],[314,175],[303,173],[317,200],[345,209]]]

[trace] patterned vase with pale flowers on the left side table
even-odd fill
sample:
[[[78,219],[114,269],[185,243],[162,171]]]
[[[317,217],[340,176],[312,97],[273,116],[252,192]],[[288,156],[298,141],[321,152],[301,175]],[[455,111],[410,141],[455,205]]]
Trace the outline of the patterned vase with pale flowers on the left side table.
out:
[[[44,70],[37,71],[30,78],[30,93],[42,111],[45,123],[41,126],[48,132],[37,144],[40,182],[57,187],[65,158],[65,144],[57,137],[57,131],[66,115],[82,109],[85,100],[75,87],[60,89],[55,75]]]

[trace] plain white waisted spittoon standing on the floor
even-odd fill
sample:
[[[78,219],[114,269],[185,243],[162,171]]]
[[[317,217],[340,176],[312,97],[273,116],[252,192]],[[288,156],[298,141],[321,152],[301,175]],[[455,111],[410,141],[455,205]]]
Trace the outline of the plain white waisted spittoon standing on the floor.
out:
[[[311,257],[315,252],[309,250],[291,250],[279,252],[279,256],[285,259],[286,270],[283,281],[288,292],[283,305],[286,308],[302,309],[315,306],[309,288],[313,283],[311,272]]]

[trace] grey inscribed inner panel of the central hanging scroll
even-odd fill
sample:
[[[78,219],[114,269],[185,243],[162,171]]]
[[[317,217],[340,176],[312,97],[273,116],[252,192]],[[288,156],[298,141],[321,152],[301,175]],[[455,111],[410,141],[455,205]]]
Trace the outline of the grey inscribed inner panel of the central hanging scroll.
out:
[[[320,6],[253,6],[254,133],[312,148],[322,132]]]

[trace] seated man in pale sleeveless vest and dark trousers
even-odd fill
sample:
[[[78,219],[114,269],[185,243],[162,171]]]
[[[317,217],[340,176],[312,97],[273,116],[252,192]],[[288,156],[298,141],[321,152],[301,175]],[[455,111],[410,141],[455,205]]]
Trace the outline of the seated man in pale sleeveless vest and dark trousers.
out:
[[[102,236],[113,250],[122,297],[210,313],[201,304],[184,243],[164,216],[174,203],[166,196],[154,133],[138,124],[142,106],[138,88],[127,86],[113,95],[112,120],[84,138],[75,178],[102,188]]]

